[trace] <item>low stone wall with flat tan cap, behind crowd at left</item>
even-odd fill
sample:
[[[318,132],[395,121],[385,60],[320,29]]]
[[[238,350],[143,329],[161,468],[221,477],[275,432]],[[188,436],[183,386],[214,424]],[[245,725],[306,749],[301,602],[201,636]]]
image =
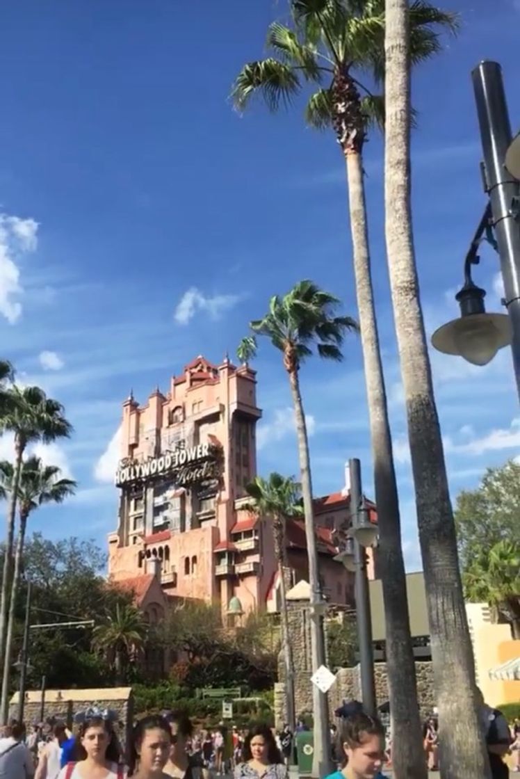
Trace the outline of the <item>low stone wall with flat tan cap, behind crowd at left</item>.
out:
[[[9,718],[18,717],[19,694],[12,696],[9,702]],[[90,706],[100,709],[111,709],[118,715],[118,737],[125,746],[132,729],[134,718],[134,699],[131,687],[115,687],[108,689],[48,689],[44,694],[43,721],[51,718],[66,722],[72,728],[74,715]],[[41,721],[40,690],[26,692],[23,719],[26,723]]]

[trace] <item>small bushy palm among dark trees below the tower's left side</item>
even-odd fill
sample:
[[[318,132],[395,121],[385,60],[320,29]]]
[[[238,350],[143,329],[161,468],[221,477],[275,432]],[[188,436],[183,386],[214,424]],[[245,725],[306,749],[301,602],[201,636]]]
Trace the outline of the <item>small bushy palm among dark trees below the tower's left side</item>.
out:
[[[147,626],[139,608],[121,603],[116,603],[114,612],[107,614],[104,625],[94,628],[93,647],[109,658],[118,684],[125,681],[125,664],[142,649],[146,633]]]

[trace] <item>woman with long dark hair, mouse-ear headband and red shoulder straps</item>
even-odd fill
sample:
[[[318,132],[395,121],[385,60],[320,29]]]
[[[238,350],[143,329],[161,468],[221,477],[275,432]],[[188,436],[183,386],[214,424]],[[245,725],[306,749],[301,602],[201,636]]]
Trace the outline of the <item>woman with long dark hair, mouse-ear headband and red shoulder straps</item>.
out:
[[[92,707],[74,717],[79,730],[73,760],[58,774],[58,779],[125,779],[120,765],[121,749],[114,733],[114,712]]]

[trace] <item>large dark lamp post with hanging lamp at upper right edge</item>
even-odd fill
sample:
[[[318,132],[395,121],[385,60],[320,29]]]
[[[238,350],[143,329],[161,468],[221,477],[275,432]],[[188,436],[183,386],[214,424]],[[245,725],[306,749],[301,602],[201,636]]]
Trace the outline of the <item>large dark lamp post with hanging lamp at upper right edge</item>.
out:
[[[511,344],[520,396],[520,136],[511,142],[501,66],[497,62],[480,62],[472,79],[483,149],[484,189],[489,203],[466,256],[464,287],[455,296],[461,317],[440,327],[431,340],[438,351],[459,354],[474,365],[486,365],[498,349]],[[490,238],[491,231],[496,244]],[[500,256],[507,316],[486,312],[486,293],[471,278],[471,266],[479,263],[477,251],[484,234]]]

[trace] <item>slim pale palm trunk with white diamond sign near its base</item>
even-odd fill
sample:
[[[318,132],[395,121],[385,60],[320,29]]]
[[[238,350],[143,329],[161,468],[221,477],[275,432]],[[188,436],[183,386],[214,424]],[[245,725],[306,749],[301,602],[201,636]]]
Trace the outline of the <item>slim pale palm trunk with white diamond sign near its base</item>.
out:
[[[301,400],[300,382],[297,369],[288,370],[290,391],[296,417],[298,440],[298,459],[300,461],[301,494],[304,500],[305,537],[309,563],[309,584],[311,586],[311,661],[312,671],[325,664],[325,642],[321,626],[321,616],[314,611],[314,605],[321,601],[321,587],[318,574],[318,552],[314,532],[314,509],[312,506],[311,458],[305,424],[304,407]],[[329,773],[329,710],[327,697],[315,685],[312,685],[312,715],[314,719],[314,753],[312,756],[312,776],[323,777]]]

